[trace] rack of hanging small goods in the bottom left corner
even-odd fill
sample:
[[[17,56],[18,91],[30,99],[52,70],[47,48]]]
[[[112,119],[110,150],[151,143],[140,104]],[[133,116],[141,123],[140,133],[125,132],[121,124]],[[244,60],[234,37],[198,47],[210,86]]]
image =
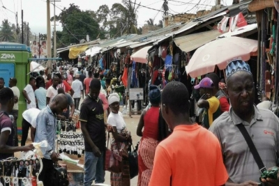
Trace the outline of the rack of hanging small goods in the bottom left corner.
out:
[[[37,176],[42,169],[43,163],[37,157],[28,160],[20,160],[16,157],[1,160],[0,185],[37,185]]]

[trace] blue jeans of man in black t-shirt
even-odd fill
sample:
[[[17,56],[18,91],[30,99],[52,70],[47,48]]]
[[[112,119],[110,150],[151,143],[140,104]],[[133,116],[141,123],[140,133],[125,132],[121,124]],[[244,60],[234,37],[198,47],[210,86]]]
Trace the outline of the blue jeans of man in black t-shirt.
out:
[[[105,182],[104,152],[101,153],[100,157],[96,157],[93,153],[85,151],[84,186],[91,186],[94,178],[95,183]]]

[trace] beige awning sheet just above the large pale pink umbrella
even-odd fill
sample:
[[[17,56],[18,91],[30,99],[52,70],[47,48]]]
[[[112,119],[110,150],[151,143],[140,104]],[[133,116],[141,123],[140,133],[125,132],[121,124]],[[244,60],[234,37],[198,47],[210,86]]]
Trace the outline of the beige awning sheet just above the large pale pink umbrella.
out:
[[[221,34],[218,30],[204,31],[174,38],[174,42],[183,52],[190,52],[207,42],[216,40]]]

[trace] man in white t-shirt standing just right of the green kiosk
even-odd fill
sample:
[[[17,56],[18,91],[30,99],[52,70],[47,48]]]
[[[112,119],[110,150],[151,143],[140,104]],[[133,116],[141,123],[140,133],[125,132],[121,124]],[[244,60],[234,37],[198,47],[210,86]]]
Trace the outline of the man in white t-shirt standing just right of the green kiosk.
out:
[[[27,100],[27,109],[36,108],[35,94],[33,91],[34,86],[36,86],[36,79],[30,77],[29,84],[22,91],[25,100]]]

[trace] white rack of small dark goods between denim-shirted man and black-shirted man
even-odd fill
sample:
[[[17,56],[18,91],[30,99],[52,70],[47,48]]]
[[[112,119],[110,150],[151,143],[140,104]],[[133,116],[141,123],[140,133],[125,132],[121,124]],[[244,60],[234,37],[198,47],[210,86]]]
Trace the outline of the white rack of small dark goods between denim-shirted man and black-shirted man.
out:
[[[59,153],[77,155],[77,157],[82,157],[84,154],[84,137],[81,132],[61,132],[57,144]]]

